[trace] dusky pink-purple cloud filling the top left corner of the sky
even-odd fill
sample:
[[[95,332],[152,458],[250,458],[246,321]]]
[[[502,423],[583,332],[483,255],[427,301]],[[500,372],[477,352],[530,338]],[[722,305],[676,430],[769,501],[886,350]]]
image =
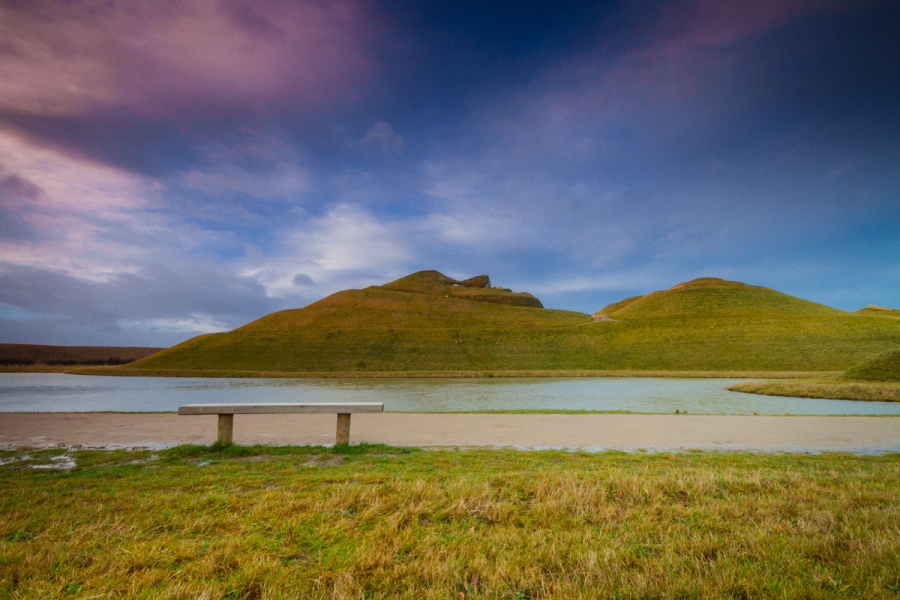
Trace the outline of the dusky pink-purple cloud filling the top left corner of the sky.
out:
[[[379,20],[354,0],[129,0],[0,6],[0,107],[317,109],[352,99]]]

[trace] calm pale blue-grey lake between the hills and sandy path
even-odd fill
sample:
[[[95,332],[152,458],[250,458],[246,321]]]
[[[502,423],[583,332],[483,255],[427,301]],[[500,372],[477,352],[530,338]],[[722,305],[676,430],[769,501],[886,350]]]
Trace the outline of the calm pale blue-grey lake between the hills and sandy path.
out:
[[[900,414],[900,403],[729,392],[738,379],[202,379],[0,373],[0,412],[175,411],[222,402],[384,402],[403,412],[570,409],[690,414]]]

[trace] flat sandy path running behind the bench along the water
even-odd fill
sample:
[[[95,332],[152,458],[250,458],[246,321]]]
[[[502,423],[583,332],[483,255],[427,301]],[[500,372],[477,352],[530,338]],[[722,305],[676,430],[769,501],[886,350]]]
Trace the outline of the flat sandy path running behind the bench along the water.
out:
[[[332,444],[334,415],[238,415],[239,444]],[[215,416],[0,413],[0,447],[164,447],[215,440]],[[357,414],[351,441],[590,450],[900,451],[900,417]]]

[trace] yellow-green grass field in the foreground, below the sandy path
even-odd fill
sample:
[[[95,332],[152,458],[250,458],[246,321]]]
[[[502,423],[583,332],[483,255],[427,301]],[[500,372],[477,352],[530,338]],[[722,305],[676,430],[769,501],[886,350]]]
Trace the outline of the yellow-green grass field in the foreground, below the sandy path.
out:
[[[0,597],[900,594],[896,455],[62,452],[0,453]]]

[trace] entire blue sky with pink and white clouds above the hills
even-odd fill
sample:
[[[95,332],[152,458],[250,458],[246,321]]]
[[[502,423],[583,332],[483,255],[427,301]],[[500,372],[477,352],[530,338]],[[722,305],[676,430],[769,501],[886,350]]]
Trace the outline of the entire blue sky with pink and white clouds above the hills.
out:
[[[421,269],[900,308],[893,0],[0,0],[0,342]]]

